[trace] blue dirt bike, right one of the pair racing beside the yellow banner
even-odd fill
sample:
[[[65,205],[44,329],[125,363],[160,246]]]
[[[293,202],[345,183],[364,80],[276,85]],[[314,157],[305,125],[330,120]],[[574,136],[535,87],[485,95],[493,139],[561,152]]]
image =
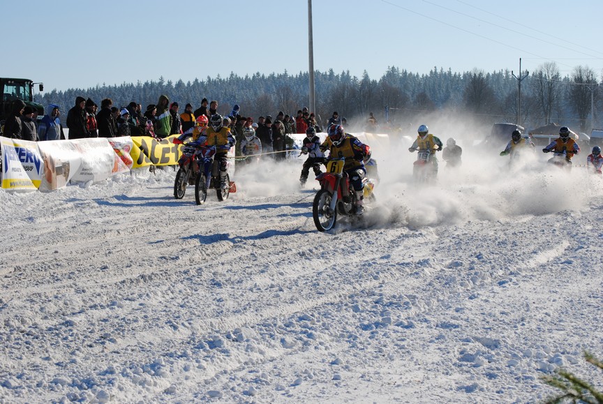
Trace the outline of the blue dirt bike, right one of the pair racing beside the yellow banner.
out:
[[[230,181],[230,176],[226,174],[226,184],[228,188],[222,188],[220,178],[220,160],[214,158],[216,154],[215,147],[205,147],[200,153],[199,167],[200,170],[197,179],[195,180],[195,202],[198,205],[205,202],[207,199],[207,190],[214,188],[219,201],[227,200],[230,193],[237,192],[234,182]]]

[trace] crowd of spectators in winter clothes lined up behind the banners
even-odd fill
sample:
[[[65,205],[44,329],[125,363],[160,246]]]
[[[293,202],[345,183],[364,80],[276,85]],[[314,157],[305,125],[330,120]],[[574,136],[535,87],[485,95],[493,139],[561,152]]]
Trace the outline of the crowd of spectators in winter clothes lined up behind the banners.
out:
[[[190,130],[201,114],[209,120],[217,113],[218,101],[207,98],[201,100],[200,107],[196,110],[193,110],[191,103],[187,103],[184,111],[180,112],[179,103],[170,103],[168,96],[161,95],[156,104],[147,105],[142,112],[142,105],[135,101],[126,107],[117,107],[113,105],[111,98],[104,98],[99,110],[94,100],[78,96],[75,98],[75,105],[67,112],[65,124],[69,139],[152,135],[161,140]],[[6,119],[3,136],[33,141],[64,140],[66,135],[59,117],[61,109],[58,105],[49,105],[45,116],[38,120],[31,107],[15,100]],[[254,121],[252,117],[245,116],[239,105],[233,105],[230,114],[225,117],[230,119],[230,130],[237,140],[237,156],[241,156],[241,142],[245,133],[250,135],[251,130],[262,144],[262,153],[274,154],[276,160],[285,158],[284,152],[292,146],[291,134],[306,134],[310,127],[315,128],[316,132],[322,132],[315,114],[307,107],[298,110],[295,116],[279,111],[274,118],[267,114]],[[371,113],[369,121],[372,123],[373,119]],[[334,123],[345,124],[345,118],[334,112],[327,126]]]

